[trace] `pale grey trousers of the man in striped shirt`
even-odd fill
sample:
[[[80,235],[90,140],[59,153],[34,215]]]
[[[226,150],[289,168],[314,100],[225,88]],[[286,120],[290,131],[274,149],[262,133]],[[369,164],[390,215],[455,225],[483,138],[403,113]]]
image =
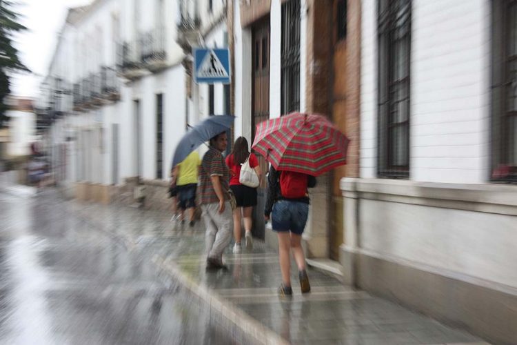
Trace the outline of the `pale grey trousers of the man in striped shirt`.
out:
[[[234,230],[232,205],[230,205],[230,201],[226,201],[223,213],[219,213],[219,203],[203,204],[201,210],[206,226],[206,255],[221,259],[223,251],[232,240]]]

